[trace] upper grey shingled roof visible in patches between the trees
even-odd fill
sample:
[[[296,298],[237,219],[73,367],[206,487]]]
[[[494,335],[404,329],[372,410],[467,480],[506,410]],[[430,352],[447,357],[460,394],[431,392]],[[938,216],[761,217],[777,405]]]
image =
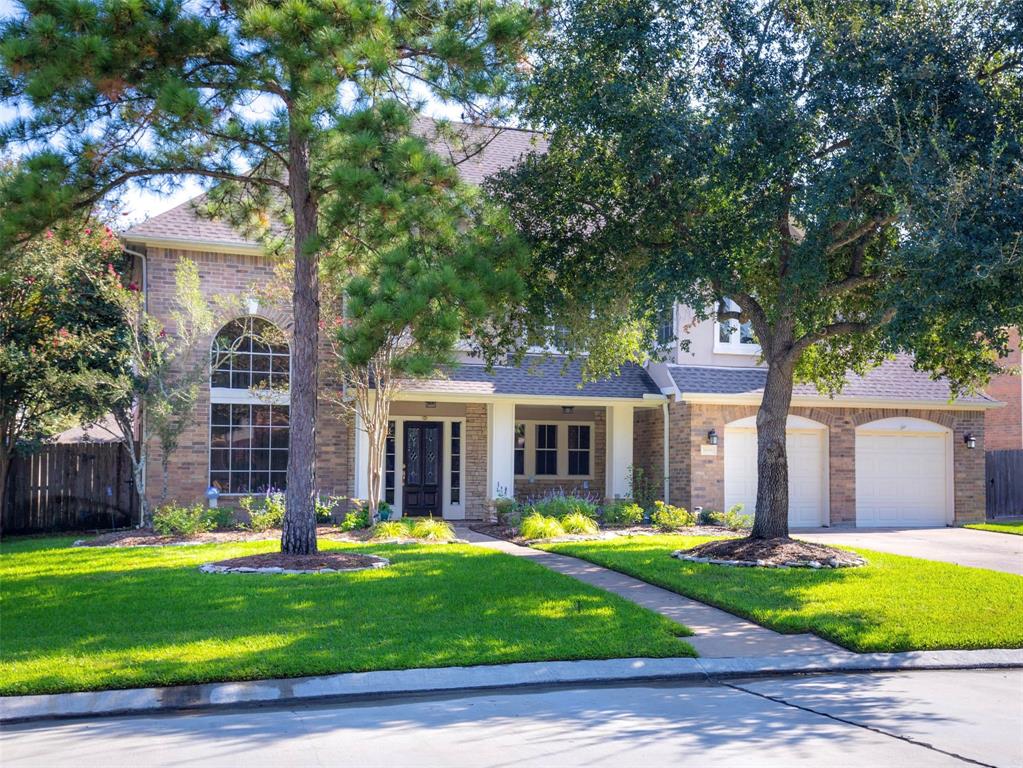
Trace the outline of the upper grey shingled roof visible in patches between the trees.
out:
[[[426,139],[433,150],[447,157],[458,170],[462,181],[481,184],[488,177],[511,168],[531,152],[543,152],[546,141],[534,132],[518,128],[491,128],[466,123],[451,123],[459,140],[454,143],[438,135],[438,125],[429,118],[415,121],[414,132]],[[260,247],[260,243],[247,237],[227,222],[201,216],[197,209],[206,195],[175,206],[136,224],[122,236],[136,240],[168,240],[209,242],[222,246]]]

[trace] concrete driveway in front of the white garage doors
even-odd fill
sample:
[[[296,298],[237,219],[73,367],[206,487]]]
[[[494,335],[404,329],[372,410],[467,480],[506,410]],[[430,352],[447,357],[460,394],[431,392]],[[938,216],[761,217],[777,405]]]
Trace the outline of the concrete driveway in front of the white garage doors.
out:
[[[793,531],[793,535],[821,544],[876,549],[1023,576],[1023,536],[967,528],[815,528]]]

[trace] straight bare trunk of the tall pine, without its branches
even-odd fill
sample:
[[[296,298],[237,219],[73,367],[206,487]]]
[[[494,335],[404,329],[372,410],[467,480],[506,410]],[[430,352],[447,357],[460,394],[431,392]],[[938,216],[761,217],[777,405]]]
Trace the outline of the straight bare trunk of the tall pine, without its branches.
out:
[[[292,341],[291,444],[280,551],[316,551],[316,387],[319,337],[319,260],[316,201],[310,191],[309,145],[293,136],[290,148],[295,212],[294,338]]]

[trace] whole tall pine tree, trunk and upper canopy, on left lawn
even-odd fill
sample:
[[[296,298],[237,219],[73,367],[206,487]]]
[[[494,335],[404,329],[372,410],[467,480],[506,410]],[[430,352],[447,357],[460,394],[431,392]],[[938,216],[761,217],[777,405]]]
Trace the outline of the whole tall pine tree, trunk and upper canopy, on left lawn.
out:
[[[0,30],[21,116],[2,143],[24,155],[0,236],[193,177],[294,258],[285,552],[316,549],[319,209],[349,183],[324,149],[381,97],[501,117],[537,19],[519,0],[19,0]]]

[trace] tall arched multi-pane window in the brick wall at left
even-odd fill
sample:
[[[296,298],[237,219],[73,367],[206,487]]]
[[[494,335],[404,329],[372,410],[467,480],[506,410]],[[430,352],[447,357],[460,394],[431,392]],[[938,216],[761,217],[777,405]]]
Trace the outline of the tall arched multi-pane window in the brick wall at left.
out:
[[[291,373],[284,334],[261,318],[232,320],[211,355],[210,485],[224,494],[282,490]]]

